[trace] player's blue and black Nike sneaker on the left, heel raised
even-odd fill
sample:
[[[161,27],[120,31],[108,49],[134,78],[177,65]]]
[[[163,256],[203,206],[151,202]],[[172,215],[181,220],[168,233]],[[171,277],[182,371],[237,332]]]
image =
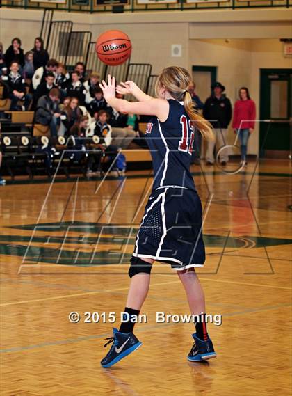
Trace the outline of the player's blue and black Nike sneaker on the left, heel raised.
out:
[[[105,338],[105,340],[109,341],[104,344],[104,347],[111,342],[113,342],[113,345],[108,351],[108,354],[100,362],[104,368],[115,365],[115,363],[133,351],[136,351],[142,345],[142,342],[133,333],[120,333],[120,331],[117,331],[117,328],[113,328],[113,337]]]

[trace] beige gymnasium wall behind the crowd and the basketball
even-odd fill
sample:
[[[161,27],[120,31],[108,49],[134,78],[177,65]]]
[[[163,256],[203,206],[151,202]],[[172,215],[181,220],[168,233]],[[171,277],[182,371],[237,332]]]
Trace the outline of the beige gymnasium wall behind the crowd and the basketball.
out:
[[[54,20],[72,20],[74,30],[90,30],[95,38],[107,29],[120,29],[133,42],[132,62],[152,63],[156,74],[167,65],[217,66],[218,81],[234,103],[240,86],[248,86],[259,114],[259,69],[291,68],[279,38],[291,37],[291,9],[206,10],[134,14],[55,13]],[[14,36],[24,49],[40,33],[42,11],[0,9],[0,40],[6,48]],[[180,57],[171,45],[181,44]],[[232,131],[229,136],[233,139]],[[249,152],[258,153],[258,128]],[[232,141],[232,140],[231,140]]]

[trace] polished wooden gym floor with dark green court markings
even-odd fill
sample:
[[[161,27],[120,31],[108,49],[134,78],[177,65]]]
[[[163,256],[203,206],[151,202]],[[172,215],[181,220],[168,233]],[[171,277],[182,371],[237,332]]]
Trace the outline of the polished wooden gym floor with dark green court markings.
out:
[[[124,308],[149,171],[102,184],[8,184],[0,188],[1,395],[291,395],[291,162],[261,161],[253,180],[254,163],[237,175],[192,171],[206,215],[198,273],[207,312],[222,315],[221,326],[209,324],[218,357],[188,363],[193,324],[156,323],[156,311],[188,313],[176,274],[156,263],[147,323],[135,331],[143,346],[109,370],[99,365]],[[84,323],[84,312],[116,312],[117,323]]]

